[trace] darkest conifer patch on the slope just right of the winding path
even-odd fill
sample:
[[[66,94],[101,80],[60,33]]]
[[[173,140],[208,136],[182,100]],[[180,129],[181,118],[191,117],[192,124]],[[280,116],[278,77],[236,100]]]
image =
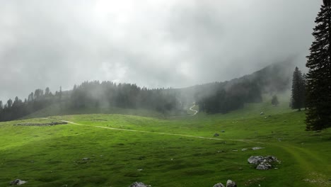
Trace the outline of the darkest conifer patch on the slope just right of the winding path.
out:
[[[261,102],[262,89],[250,80],[228,84],[202,85],[195,96],[199,110],[206,113],[227,113],[242,108],[244,103]]]

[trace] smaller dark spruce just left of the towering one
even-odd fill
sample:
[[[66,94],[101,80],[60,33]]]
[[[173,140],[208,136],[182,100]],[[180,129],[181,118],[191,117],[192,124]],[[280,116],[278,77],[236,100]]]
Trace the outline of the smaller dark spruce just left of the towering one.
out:
[[[296,67],[293,72],[291,102],[291,108],[298,109],[298,111],[301,111],[301,108],[304,107],[305,81],[303,80],[303,75],[298,67]]]

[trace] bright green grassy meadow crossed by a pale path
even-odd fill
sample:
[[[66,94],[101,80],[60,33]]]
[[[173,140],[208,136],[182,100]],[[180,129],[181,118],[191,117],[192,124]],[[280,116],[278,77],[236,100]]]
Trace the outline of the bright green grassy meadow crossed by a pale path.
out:
[[[287,103],[267,101],[225,115],[86,114],[0,123],[0,186],[14,179],[28,181],[23,186],[208,187],[227,179],[238,186],[331,186],[331,130],[306,132],[304,118]],[[73,123],[16,125],[57,120]],[[265,149],[241,151],[252,147]],[[273,155],[281,164],[258,171],[247,162],[252,155]]]

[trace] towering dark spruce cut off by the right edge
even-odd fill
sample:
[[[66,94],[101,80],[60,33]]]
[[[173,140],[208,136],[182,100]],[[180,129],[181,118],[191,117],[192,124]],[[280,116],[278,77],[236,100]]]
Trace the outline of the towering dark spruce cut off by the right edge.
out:
[[[315,41],[306,63],[306,130],[331,127],[331,0],[323,1],[315,23]]]

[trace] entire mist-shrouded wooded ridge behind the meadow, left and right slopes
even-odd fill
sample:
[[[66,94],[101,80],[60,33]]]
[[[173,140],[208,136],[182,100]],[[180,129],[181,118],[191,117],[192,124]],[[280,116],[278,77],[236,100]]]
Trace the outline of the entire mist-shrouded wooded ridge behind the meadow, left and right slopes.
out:
[[[16,97],[14,101],[8,100],[4,108],[0,105],[0,121],[78,113],[167,117],[187,115],[193,102],[200,106],[200,111],[227,113],[242,108],[245,103],[261,102],[264,93],[289,89],[292,66],[291,62],[276,63],[238,79],[185,89],[146,89],[110,81],[86,81],[54,95],[50,89],[45,89],[45,93],[36,89],[28,100]]]

